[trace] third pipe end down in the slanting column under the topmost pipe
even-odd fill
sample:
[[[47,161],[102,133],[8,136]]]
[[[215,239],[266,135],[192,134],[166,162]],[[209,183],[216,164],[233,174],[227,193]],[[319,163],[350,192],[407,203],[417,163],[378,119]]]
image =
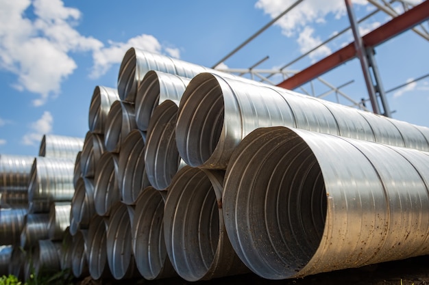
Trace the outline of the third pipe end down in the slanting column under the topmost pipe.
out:
[[[94,206],[100,215],[109,215],[110,207],[121,200],[118,187],[118,154],[105,152],[95,169]]]

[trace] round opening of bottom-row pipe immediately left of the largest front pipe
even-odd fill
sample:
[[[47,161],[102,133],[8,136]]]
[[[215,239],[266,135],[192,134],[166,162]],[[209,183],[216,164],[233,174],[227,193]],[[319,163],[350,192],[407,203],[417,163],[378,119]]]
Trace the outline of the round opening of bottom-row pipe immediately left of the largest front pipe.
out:
[[[196,168],[182,170],[167,193],[164,234],[177,273],[197,281],[210,271],[217,257],[219,209],[208,176]]]

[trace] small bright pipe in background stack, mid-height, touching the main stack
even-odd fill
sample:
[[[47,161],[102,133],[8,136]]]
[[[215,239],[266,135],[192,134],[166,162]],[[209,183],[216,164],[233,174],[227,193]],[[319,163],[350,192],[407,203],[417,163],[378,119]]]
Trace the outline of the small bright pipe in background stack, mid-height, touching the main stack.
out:
[[[61,241],[70,226],[71,202],[53,202],[49,209],[48,235],[51,241]]]

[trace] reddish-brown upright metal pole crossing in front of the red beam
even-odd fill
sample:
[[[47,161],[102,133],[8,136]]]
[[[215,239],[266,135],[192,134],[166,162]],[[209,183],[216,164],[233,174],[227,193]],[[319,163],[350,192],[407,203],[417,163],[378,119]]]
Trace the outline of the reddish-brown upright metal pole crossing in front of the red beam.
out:
[[[359,30],[356,24],[356,17],[354,16],[354,11],[352,8],[352,0],[344,0],[345,7],[347,8],[347,15],[349,16],[350,26],[352,27],[353,36],[354,36],[354,46],[356,53],[360,60],[360,66],[362,67],[363,77],[365,78],[365,84],[367,85],[367,90],[369,94],[369,100],[371,101],[372,110],[374,113],[380,114],[380,108],[378,107],[376,90],[374,90],[371,74],[369,72],[368,59],[363,46],[362,38],[360,38]]]

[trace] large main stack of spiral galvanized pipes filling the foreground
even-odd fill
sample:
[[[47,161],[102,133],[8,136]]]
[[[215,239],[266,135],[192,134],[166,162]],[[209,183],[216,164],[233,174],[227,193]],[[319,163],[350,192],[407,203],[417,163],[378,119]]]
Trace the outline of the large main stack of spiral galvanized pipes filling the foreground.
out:
[[[95,279],[285,279],[429,253],[424,126],[132,48],[89,128],[71,234]]]

